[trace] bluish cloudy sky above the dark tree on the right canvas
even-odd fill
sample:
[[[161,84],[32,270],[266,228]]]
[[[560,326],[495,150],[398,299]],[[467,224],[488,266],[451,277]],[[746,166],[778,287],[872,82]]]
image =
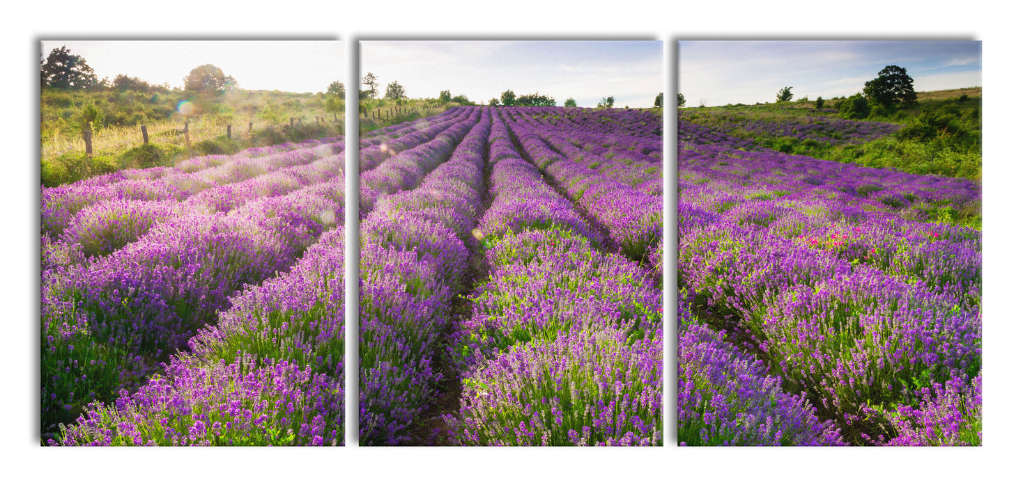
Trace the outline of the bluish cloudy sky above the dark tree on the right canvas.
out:
[[[904,67],[916,91],[981,86],[980,41],[681,41],[685,106],[829,99],[862,91],[878,71]]]

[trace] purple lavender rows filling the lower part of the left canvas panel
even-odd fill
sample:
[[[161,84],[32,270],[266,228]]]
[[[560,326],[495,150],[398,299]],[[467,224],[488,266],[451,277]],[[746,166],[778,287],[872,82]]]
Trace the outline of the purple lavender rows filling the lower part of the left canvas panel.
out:
[[[165,217],[97,218],[101,251],[44,267],[42,428],[56,433],[51,443],[343,442],[342,144],[186,161],[213,165],[186,178],[205,190],[150,192],[170,208]],[[115,188],[181,181],[164,173],[81,186],[127,195],[131,207],[144,191]],[[74,200],[47,196],[44,208]],[[62,207],[77,217],[106,204]],[[65,235],[57,238],[74,242]],[[311,298],[296,301],[303,292]]]

